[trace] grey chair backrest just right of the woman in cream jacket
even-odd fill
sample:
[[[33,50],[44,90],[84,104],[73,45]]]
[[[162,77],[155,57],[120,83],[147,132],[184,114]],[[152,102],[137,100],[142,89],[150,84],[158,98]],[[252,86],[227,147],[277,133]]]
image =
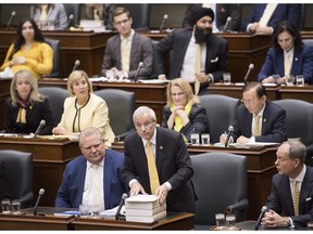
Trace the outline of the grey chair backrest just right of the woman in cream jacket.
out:
[[[134,128],[135,93],[117,89],[102,89],[93,92],[101,96],[108,105],[110,126],[115,135],[123,134]]]

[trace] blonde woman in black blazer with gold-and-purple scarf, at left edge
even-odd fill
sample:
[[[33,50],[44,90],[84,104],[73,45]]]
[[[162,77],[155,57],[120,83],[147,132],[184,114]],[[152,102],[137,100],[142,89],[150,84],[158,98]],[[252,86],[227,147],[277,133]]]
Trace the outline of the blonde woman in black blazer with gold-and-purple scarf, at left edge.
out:
[[[10,88],[11,98],[5,102],[4,129],[8,133],[35,133],[41,120],[46,123],[39,134],[51,134],[54,119],[49,100],[38,91],[38,83],[28,70],[18,70]]]

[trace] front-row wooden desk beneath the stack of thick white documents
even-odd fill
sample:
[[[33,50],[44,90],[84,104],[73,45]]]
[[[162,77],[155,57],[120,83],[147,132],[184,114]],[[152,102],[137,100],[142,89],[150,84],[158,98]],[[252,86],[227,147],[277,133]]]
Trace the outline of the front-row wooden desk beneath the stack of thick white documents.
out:
[[[192,230],[193,217],[193,213],[167,212],[165,219],[154,223],[77,218],[73,225],[74,230]]]

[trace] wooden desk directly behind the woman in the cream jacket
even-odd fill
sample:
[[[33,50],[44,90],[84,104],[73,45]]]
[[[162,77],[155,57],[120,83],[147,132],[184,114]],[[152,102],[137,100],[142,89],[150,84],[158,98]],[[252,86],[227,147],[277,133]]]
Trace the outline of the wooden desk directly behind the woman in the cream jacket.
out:
[[[58,86],[66,89],[66,81],[63,79],[40,79],[39,87]],[[162,122],[162,112],[166,104],[167,83],[135,83],[135,82],[92,82],[93,91],[100,89],[120,89],[135,93],[136,108],[146,105],[154,109],[158,122]]]

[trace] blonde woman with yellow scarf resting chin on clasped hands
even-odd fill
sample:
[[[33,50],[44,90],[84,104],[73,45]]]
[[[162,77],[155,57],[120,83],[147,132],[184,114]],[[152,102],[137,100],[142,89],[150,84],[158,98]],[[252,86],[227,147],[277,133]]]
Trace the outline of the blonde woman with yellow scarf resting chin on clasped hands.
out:
[[[209,118],[190,84],[176,78],[167,84],[167,103],[163,108],[162,127],[181,132],[190,141],[191,133],[209,133]]]

